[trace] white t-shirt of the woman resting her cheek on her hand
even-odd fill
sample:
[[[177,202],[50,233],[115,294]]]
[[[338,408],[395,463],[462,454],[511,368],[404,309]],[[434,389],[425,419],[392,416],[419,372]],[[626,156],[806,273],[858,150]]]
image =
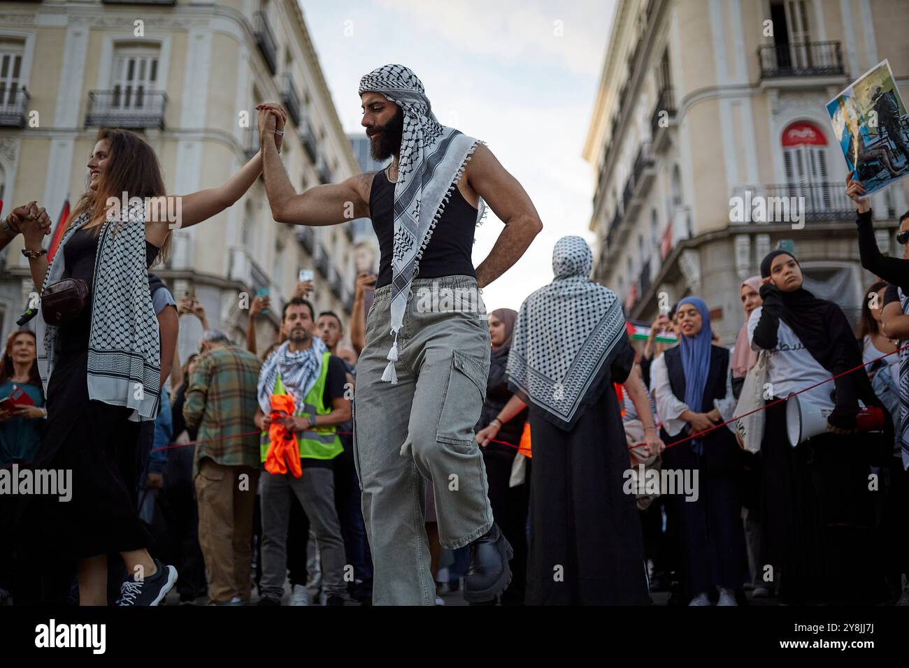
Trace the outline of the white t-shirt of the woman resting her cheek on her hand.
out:
[[[761,350],[754,344],[754,330],[761,320],[763,311],[764,306],[758,306],[748,318],[748,343],[751,344],[752,350]],[[822,383],[834,375],[814,359],[799,337],[795,335],[792,327],[785,324],[782,319],[776,332],[776,347],[769,353],[767,356],[767,383],[774,385],[775,397],[787,397],[815,383]],[[830,393],[833,391],[834,382],[830,381],[799,396],[812,395],[817,397],[821,403],[833,404],[830,400]]]

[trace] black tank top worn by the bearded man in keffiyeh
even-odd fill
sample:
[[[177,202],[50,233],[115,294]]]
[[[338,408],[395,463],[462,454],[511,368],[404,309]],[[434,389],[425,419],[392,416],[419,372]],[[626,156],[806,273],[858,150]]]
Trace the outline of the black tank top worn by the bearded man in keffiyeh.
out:
[[[373,177],[373,188],[369,194],[369,217],[373,221],[375,235],[379,239],[379,276],[375,287],[392,282],[392,253],[395,245],[395,184],[388,181],[385,170]],[[433,236],[420,258],[419,278],[440,278],[442,276],[474,276],[474,248],[476,209],[471,206],[461,191],[454,187],[454,193],[445,204],[445,211],[435,224]]]

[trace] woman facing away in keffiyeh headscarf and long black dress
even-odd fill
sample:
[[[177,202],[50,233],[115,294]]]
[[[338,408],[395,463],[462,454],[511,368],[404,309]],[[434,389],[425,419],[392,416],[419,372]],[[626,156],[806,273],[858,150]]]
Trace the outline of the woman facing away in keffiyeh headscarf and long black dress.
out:
[[[507,374],[530,406],[534,441],[526,603],[648,604],[644,541],[618,399],[625,384],[644,422],[644,454],[664,445],[634,370],[622,307],[589,280],[590,247],[565,236],[554,280],[521,305]],[[510,402],[511,403],[511,402]]]

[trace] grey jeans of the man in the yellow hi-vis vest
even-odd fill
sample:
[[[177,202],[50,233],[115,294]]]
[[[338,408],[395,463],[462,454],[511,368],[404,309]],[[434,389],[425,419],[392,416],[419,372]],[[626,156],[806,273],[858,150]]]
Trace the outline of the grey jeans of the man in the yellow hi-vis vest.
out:
[[[304,467],[303,475],[262,472],[262,582],[265,596],[280,599],[287,578],[287,526],[291,494],[300,500],[315,531],[322,556],[322,589],[325,594],[342,594],[345,551],[341,526],[335,512],[335,472],[330,468]]]

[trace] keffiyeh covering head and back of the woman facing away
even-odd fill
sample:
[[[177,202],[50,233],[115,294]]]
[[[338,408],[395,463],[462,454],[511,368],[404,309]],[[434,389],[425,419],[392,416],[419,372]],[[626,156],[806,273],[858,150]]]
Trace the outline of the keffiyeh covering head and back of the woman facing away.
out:
[[[584,412],[588,391],[627,336],[614,292],[589,280],[593,265],[580,236],[556,242],[555,278],[521,304],[508,354],[508,379],[565,430]]]

